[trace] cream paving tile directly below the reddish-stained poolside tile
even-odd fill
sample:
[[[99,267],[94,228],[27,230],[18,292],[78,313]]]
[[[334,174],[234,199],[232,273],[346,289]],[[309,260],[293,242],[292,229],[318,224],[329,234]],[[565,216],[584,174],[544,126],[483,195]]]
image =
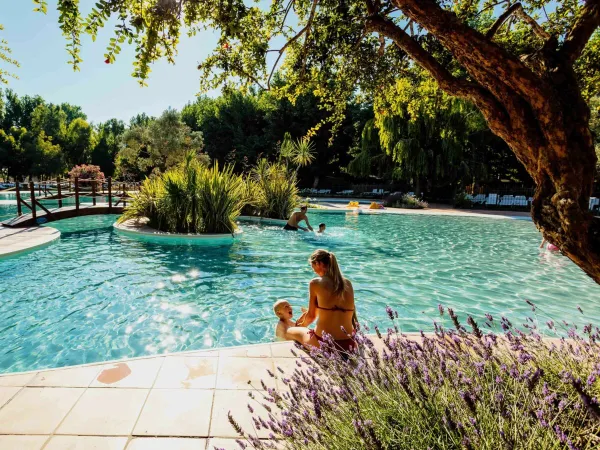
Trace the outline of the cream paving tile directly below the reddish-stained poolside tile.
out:
[[[146,389],[88,389],[56,433],[129,435],[147,395]]]

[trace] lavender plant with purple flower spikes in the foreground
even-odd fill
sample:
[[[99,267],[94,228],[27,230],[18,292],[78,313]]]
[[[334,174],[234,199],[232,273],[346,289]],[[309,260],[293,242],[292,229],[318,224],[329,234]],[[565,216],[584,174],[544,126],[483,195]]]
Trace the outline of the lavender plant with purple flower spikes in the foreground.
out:
[[[253,430],[230,414],[240,446],[600,448],[598,327],[588,324],[579,333],[565,323],[557,333],[548,321],[544,334],[554,336],[548,339],[531,318],[519,328],[486,314],[492,331],[484,331],[470,316],[464,326],[451,308],[439,311],[435,332],[419,336],[401,333],[388,308],[387,333],[356,334],[362,354],[334,350],[329,337],[310,354],[299,350],[293,373],[270,374],[287,389],[263,385],[252,396]],[[270,440],[258,439],[265,430]]]

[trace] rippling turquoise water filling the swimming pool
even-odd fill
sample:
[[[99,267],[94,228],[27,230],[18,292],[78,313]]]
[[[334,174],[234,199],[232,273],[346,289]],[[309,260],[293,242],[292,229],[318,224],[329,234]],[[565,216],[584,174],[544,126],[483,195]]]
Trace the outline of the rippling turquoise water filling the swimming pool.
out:
[[[278,298],[296,315],[317,248],[338,255],[361,321],[430,330],[437,305],[518,323],[525,299],[550,315],[600,318],[600,287],[568,259],[538,249],[521,220],[311,213],[327,233],[243,223],[226,246],[165,245],[118,234],[115,216],[52,224],[55,244],[0,259],[0,372],[272,340]]]

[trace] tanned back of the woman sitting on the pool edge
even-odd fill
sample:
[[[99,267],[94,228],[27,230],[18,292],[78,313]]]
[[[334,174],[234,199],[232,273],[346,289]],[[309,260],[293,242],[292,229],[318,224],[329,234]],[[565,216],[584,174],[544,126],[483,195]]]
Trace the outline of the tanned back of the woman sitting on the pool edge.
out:
[[[330,334],[333,339],[347,339],[354,331],[354,289],[350,280],[344,279],[344,290],[335,292],[334,282],[327,276],[315,278],[311,287],[317,297],[317,327],[316,333]],[[342,331],[342,327],[345,332]]]

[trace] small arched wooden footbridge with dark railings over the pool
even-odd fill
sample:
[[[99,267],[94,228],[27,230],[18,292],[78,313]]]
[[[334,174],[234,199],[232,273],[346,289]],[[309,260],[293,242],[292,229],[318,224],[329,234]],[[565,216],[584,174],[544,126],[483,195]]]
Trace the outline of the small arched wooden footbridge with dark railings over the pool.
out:
[[[130,192],[139,189],[137,183],[115,182],[111,177],[106,182],[77,177],[73,181],[58,178],[55,183],[38,183],[37,188],[32,181],[29,182],[30,196],[27,201],[22,197],[23,191],[19,185],[15,185],[17,217],[2,222],[6,227],[31,227],[78,216],[121,214],[127,201],[131,200]],[[74,204],[63,204],[66,199],[74,199]],[[82,202],[83,199],[88,202]],[[57,203],[57,207],[44,205],[46,201]],[[23,207],[29,212],[24,214]]]

